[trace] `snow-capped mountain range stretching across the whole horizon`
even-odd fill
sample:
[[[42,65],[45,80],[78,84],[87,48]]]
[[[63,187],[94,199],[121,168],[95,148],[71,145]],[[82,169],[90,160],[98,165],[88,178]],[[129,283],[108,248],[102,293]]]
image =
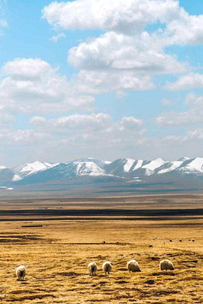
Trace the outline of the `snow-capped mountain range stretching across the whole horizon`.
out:
[[[203,176],[203,158],[183,157],[176,161],[162,158],[135,160],[121,158],[113,162],[94,158],[81,158],[64,163],[35,161],[14,168],[0,166],[0,182],[29,184],[49,180],[74,179],[76,177],[109,177],[144,179],[149,176]]]

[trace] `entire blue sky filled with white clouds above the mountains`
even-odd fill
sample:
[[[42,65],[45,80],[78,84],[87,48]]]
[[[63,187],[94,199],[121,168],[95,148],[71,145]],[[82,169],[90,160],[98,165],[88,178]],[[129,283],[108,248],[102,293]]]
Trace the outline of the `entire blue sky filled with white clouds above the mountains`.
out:
[[[203,2],[0,1],[0,165],[203,156]]]

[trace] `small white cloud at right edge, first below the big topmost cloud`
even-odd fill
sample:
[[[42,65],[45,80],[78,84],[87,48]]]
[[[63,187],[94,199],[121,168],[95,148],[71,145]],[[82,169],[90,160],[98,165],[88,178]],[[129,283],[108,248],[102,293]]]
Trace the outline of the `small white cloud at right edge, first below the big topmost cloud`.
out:
[[[192,72],[181,76],[175,82],[167,82],[164,88],[170,91],[203,88],[203,75]]]

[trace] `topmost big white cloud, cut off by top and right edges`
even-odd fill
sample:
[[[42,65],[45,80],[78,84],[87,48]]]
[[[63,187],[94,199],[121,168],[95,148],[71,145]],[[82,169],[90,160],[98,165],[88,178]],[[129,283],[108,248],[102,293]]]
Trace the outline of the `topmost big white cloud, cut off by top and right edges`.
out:
[[[203,42],[203,15],[189,15],[176,0],[75,0],[52,2],[42,18],[56,28],[102,29],[117,33],[141,33],[147,24],[160,22],[165,44]]]

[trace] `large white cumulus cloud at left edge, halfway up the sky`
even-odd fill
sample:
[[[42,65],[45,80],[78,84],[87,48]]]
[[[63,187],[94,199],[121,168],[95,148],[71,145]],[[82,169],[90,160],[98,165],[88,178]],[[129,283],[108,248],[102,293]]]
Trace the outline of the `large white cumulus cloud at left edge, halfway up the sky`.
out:
[[[56,68],[39,58],[6,62],[0,82],[0,108],[21,112],[62,112],[85,108],[94,97],[81,95]]]

